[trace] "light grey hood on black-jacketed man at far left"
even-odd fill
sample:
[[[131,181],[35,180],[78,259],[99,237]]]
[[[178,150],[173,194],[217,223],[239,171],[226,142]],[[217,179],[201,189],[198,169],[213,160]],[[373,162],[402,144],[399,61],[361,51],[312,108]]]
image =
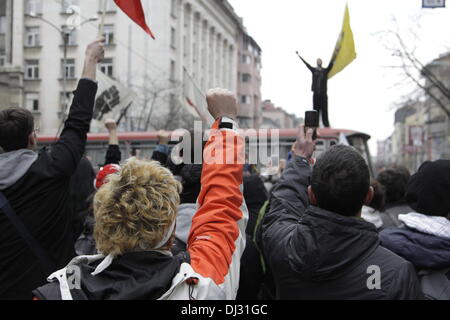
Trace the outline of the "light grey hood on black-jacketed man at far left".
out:
[[[37,158],[37,153],[28,149],[0,154],[0,190],[5,190],[19,181]]]

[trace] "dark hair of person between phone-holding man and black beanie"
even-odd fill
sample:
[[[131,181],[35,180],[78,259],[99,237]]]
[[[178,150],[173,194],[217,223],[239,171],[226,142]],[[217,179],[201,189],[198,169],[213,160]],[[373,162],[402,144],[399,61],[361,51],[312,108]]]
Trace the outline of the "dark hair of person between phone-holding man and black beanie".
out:
[[[405,201],[406,185],[410,178],[406,168],[389,168],[378,174],[377,180],[386,189],[386,204]]]

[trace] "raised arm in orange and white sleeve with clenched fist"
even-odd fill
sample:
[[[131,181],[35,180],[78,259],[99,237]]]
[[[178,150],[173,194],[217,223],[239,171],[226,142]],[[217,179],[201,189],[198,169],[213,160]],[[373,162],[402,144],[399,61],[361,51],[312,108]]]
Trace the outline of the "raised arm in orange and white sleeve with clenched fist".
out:
[[[216,89],[207,100],[216,122],[204,151],[200,207],[192,221],[188,251],[195,272],[220,288],[224,299],[235,299],[248,220],[242,194],[244,141],[234,121],[236,98]]]

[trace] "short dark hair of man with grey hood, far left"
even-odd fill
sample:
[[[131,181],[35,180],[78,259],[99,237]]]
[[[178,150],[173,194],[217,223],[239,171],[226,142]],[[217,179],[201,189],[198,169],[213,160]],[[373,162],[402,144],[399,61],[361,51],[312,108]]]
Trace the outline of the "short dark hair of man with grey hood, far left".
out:
[[[33,130],[33,115],[27,109],[9,108],[0,111],[0,147],[5,152],[27,148],[28,137]]]

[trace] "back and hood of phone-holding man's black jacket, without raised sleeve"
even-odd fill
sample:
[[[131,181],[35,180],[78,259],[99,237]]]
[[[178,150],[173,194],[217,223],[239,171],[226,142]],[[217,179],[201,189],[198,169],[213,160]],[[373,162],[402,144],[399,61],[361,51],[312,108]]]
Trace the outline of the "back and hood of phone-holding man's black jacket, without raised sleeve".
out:
[[[421,298],[413,266],[381,247],[360,218],[309,207],[270,243],[278,299]]]

